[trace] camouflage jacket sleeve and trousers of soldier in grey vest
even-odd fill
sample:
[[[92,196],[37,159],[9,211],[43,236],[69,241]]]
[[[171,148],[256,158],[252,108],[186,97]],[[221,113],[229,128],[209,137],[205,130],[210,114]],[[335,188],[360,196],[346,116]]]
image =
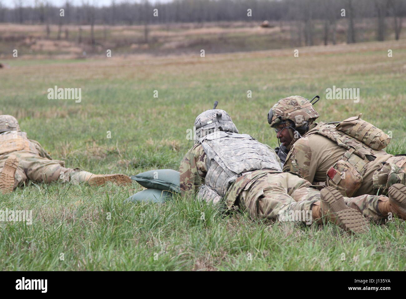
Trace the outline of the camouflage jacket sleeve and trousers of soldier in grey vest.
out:
[[[276,155],[275,155],[276,156]],[[195,144],[183,158],[180,172],[181,194],[194,195],[205,183],[207,155],[201,144]],[[320,201],[320,191],[305,179],[277,170],[255,170],[241,175],[229,188],[225,205],[231,210],[240,206],[253,218],[276,220],[287,211],[310,211]],[[377,210],[385,196],[363,195],[344,197],[346,204],[374,220],[386,218]]]

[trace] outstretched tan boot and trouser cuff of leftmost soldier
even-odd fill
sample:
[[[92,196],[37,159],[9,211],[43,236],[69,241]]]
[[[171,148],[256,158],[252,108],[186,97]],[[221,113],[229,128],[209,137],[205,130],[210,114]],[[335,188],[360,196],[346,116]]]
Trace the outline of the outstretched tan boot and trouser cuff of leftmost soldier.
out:
[[[106,182],[112,182],[117,185],[125,185],[125,184],[130,184],[131,179],[127,175],[121,175],[121,174],[114,174],[114,175],[94,175],[91,172],[88,171],[74,171],[71,172],[71,182],[72,183],[80,183],[80,182],[86,182],[89,185],[92,186],[102,186]]]

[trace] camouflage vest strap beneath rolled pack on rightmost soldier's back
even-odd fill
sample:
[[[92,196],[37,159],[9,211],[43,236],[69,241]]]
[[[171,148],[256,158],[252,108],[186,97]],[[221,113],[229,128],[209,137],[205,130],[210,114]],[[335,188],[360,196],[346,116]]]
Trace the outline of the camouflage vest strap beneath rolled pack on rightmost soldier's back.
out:
[[[347,152],[341,157],[352,165],[361,175],[365,173],[365,165],[376,159],[378,156],[387,155],[384,150],[374,150],[344,132],[337,130],[335,124],[319,122],[310,129],[304,136],[320,134],[336,142],[339,146],[346,148]]]

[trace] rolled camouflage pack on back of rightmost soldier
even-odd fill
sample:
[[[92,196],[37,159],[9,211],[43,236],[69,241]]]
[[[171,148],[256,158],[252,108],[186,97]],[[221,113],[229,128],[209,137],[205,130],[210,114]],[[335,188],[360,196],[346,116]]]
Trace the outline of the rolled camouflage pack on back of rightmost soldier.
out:
[[[370,148],[380,151],[387,147],[391,138],[373,124],[361,119],[361,115],[350,117],[336,125],[338,131],[344,132]]]

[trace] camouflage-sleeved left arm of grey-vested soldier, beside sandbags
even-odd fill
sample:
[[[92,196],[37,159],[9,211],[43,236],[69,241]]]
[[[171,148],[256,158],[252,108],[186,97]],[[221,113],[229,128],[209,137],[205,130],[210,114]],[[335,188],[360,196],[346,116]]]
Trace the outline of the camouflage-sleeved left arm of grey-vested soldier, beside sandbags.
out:
[[[195,194],[206,177],[206,153],[201,144],[195,144],[186,153],[179,167],[181,195]]]

